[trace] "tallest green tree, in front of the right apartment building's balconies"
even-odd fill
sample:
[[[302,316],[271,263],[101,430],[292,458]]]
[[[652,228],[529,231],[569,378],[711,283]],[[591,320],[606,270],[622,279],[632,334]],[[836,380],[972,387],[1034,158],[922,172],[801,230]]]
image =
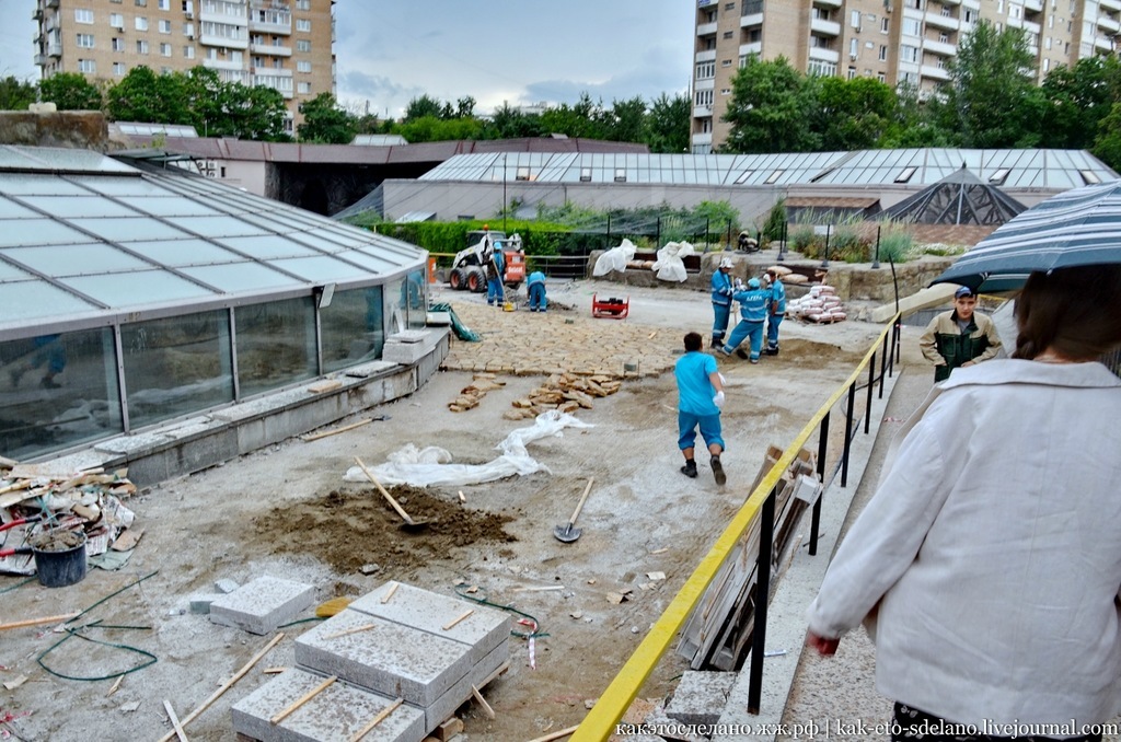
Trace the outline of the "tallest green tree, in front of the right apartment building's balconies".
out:
[[[1031,147],[1039,140],[1037,119],[1043,96],[1029,74],[1035,59],[1020,28],[998,31],[978,22],[949,65],[951,82],[942,87],[949,131],[962,147],[991,149]]]

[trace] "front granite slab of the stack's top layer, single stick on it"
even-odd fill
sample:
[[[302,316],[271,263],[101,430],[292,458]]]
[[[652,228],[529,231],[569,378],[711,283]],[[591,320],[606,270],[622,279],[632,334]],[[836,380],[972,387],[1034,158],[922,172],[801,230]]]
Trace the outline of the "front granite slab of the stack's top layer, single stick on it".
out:
[[[327,638],[365,625],[372,628]],[[467,675],[469,655],[462,642],[350,609],[296,639],[297,665],[424,707]]]

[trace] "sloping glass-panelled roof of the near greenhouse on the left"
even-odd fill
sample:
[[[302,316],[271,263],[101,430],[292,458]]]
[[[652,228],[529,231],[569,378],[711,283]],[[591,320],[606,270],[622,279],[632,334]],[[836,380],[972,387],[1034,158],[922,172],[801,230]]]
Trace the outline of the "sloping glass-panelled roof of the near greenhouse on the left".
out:
[[[175,168],[0,147],[0,330],[372,284],[424,257],[406,242]]]

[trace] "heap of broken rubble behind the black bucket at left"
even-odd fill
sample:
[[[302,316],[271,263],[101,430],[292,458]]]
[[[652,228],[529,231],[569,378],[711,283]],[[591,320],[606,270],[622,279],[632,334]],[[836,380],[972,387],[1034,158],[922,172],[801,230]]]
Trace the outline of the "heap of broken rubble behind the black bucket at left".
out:
[[[35,574],[24,547],[62,531],[84,534],[86,556],[94,563],[113,553],[111,568],[123,564],[142,535],[131,528],[135,516],[121,502],[137,491],[127,475],[124,469],[73,472],[0,458],[0,550],[19,549],[0,557],[0,574]]]

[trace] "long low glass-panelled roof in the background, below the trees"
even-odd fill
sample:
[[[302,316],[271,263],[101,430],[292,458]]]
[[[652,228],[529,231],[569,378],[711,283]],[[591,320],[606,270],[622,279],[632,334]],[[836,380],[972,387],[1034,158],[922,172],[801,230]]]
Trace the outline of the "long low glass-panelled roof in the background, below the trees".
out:
[[[1084,171],[1100,180],[1118,177],[1117,173],[1084,150],[927,148],[766,155],[475,152],[456,155],[419,179],[926,186],[957,171],[962,164],[982,180],[1007,168],[1009,173],[1003,188],[1066,189],[1083,186],[1087,183]]]

